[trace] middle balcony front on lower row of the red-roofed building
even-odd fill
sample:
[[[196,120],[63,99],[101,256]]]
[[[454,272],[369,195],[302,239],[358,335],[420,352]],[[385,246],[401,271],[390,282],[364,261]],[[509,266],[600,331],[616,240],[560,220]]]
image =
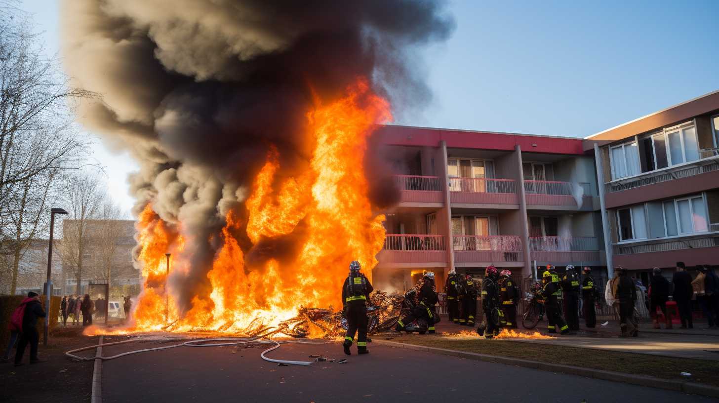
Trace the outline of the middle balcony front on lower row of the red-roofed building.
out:
[[[459,266],[523,260],[522,241],[516,235],[454,235],[452,243],[454,262]]]

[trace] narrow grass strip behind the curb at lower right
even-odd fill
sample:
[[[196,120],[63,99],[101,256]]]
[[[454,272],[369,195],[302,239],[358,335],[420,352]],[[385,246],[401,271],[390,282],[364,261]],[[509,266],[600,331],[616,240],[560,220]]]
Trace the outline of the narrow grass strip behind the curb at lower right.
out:
[[[521,343],[511,340],[485,340],[482,338],[454,338],[442,335],[400,335],[388,340],[427,347],[448,348],[492,356],[523,358],[556,364],[581,366],[659,378],[680,380],[680,372],[692,374],[692,381],[719,386],[719,362],[692,358],[650,356],[641,353],[620,353],[592,348],[565,347]]]

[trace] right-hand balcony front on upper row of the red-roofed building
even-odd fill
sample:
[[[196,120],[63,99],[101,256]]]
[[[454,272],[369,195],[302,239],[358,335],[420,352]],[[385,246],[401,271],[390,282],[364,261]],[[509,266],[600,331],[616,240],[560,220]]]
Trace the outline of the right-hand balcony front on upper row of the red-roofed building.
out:
[[[592,188],[588,183],[558,181],[524,181],[528,206],[549,206],[561,208],[592,209]],[[577,198],[582,197],[582,205]]]

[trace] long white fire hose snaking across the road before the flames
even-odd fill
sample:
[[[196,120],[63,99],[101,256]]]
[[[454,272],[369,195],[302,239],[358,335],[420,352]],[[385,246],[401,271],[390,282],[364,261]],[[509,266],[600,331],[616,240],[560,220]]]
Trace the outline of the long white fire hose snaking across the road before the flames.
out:
[[[75,348],[74,350],[70,350],[65,352],[65,356],[68,356],[70,358],[73,358],[75,360],[79,361],[94,361],[96,359],[101,359],[104,361],[112,360],[114,358],[119,358],[123,356],[129,356],[131,354],[137,354],[137,353],[145,353],[147,351],[155,351],[155,350],[165,350],[168,348],[175,348],[175,347],[182,347],[182,346],[188,346],[188,347],[217,347],[217,346],[224,346],[224,345],[241,345],[241,344],[248,344],[248,343],[260,343],[260,344],[273,344],[272,347],[267,348],[267,350],[262,351],[260,354],[260,357],[262,357],[263,360],[269,361],[270,363],[281,363],[285,365],[302,365],[302,366],[309,366],[314,361],[290,361],[290,360],[278,360],[275,358],[268,358],[265,356],[265,354],[270,353],[270,351],[277,350],[280,348],[280,345],[286,344],[286,343],[300,343],[300,344],[327,344],[329,342],[306,342],[301,340],[273,340],[273,339],[263,339],[263,338],[206,338],[206,339],[198,339],[198,340],[190,340],[179,344],[173,344],[173,345],[164,345],[162,347],[155,347],[155,348],[143,348],[142,350],[132,350],[127,351],[125,353],[119,353],[115,356],[94,356],[94,357],[82,357],[82,356],[76,356],[73,353],[78,353],[83,350],[90,350],[91,348],[98,348],[98,347],[106,347],[108,345],[117,345],[117,344],[124,344],[124,343],[131,343],[134,341],[140,340],[139,337],[132,338],[129,340],[122,340],[122,341],[116,341],[113,343],[100,343],[96,345],[91,345],[89,347],[83,347],[83,348]],[[221,343],[208,343],[208,342],[221,342]],[[201,344],[198,344],[201,343]]]

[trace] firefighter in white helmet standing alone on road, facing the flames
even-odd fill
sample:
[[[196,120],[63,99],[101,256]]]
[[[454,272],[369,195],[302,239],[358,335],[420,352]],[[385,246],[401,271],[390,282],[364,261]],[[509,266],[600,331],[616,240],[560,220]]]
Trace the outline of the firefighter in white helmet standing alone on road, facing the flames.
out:
[[[342,303],[347,317],[347,333],[344,335],[344,353],[349,356],[349,347],[357,332],[357,354],[367,354],[367,306],[365,302],[370,299],[372,284],[364,274],[359,272],[359,262],[349,263],[349,276],[342,285]]]

